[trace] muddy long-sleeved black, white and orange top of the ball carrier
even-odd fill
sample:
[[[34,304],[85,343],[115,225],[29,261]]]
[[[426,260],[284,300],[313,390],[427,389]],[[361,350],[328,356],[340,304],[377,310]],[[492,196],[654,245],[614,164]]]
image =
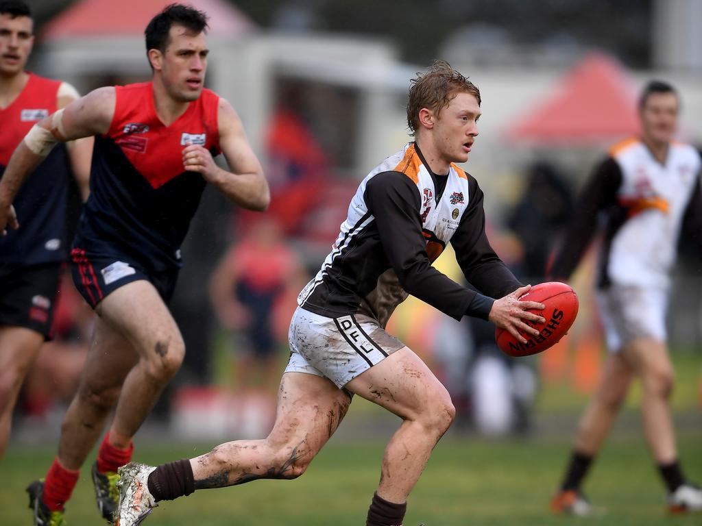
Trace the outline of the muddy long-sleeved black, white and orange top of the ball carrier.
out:
[[[359,185],[317,276],[300,292],[304,309],[336,318],[356,312],[385,326],[408,294],[460,319],[475,291],[432,267],[451,243],[472,285],[489,297],[520,286],[485,236],[482,191],[451,165],[436,175],[415,143],[388,157]]]

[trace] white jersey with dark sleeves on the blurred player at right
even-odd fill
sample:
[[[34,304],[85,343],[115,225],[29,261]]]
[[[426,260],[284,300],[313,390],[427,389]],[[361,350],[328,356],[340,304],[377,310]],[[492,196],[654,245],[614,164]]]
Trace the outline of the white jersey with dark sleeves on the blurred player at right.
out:
[[[667,290],[686,210],[699,208],[701,166],[699,152],[689,144],[671,143],[665,163],[639,139],[617,144],[583,191],[553,276],[571,274],[596,230],[597,213],[604,212],[600,287]],[[699,236],[702,218],[693,220]]]

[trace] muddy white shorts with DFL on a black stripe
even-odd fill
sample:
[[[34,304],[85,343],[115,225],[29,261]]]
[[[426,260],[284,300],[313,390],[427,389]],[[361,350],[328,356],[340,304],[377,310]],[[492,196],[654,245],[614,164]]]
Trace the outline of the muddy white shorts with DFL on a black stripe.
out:
[[[288,342],[291,353],[285,372],[326,377],[339,389],[404,347],[369,316],[327,318],[299,306],[290,322]]]

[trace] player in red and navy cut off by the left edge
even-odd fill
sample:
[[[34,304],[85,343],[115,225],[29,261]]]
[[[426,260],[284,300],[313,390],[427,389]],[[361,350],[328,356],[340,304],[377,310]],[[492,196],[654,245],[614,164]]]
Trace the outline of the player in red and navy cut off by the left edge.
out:
[[[34,44],[33,27],[24,1],[0,0],[0,177],[34,124],[79,98],[65,82],[25,71]],[[0,458],[22,380],[41,344],[51,337],[60,275],[68,257],[70,174],[87,198],[92,145],[92,139],[84,139],[55,148],[15,198],[22,229],[0,229]]]

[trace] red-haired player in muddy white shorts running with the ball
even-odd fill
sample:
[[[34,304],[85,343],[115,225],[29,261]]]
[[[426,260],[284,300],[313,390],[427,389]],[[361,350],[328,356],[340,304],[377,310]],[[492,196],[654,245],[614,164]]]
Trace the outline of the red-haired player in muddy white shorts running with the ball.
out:
[[[468,160],[479,116],[479,91],[446,62],[413,79],[407,117],[416,141],[362,181],[332,252],[300,292],[270,435],[190,460],[120,468],[120,526],[194,490],[297,478],[336,431],[353,394],[402,419],[366,518],[367,526],[402,525],[406,499],[455,410],[425,363],[385,332],[395,307],[412,294],[456,319],[489,319],[522,342],[518,330],[538,334],[527,321],[543,323],[527,312],[543,304],[517,299],[529,287],[486,238],[477,181],[454,164]],[[449,241],[465,278],[486,295],[432,267]]]

